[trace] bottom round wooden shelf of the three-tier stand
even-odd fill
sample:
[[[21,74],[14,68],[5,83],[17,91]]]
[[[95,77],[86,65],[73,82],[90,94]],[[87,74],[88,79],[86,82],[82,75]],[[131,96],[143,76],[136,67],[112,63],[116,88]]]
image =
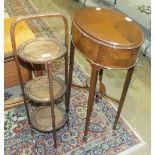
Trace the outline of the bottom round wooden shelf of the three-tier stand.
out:
[[[67,115],[65,111],[58,107],[57,105],[54,106],[54,113],[55,113],[55,126],[56,130],[63,127],[67,121]],[[41,132],[52,132],[52,117],[51,117],[51,107],[50,106],[43,106],[36,109],[35,112],[31,115],[31,123],[34,128]]]

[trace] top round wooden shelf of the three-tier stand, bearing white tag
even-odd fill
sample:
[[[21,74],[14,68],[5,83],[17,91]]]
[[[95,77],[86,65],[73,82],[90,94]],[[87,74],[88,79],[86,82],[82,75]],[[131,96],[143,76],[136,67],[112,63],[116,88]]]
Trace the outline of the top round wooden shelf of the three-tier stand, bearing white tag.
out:
[[[35,64],[57,60],[65,53],[65,45],[53,38],[31,39],[18,48],[18,56],[22,60]]]

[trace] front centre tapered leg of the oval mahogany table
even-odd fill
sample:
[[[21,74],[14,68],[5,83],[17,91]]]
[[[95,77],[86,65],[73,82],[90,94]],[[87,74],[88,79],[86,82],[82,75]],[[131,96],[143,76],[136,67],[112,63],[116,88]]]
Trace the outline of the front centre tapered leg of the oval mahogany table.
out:
[[[84,131],[84,141],[87,139],[87,133],[88,133],[88,128],[90,124],[90,116],[94,105],[94,95],[95,95],[95,88],[96,88],[97,75],[98,75],[98,70],[96,66],[92,64],[91,67],[92,67],[92,71],[91,71],[91,78],[90,78],[90,88],[89,88],[87,115],[86,115],[85,131]]]

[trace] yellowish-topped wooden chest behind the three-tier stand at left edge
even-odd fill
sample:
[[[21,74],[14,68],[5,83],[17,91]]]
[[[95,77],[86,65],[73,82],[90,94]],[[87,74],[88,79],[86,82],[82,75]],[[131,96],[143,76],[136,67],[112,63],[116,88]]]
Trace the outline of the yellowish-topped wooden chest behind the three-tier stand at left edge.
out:
[[[10,27],[14,20],[13,17],[4,19],[4,88],[19,85],[10,39]],[[35,35],[24,21],[17,26],[15,34],[17,47],[24,41],[35,38]],[[32,76],[30,66],[25,62],[21,62],[20,64],[23,81],[27,82]]]

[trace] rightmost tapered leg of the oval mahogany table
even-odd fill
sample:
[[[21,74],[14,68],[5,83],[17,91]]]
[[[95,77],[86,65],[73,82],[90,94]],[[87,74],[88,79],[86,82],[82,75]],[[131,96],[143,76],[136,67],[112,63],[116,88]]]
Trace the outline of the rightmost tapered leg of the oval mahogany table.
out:
[[[124,100],[125,100],[125,97],[126,97],[126,94],[127,94],[127,91],[128,91],[128,87],[129,87],[129,84],[130,84],[130,80],[131,80],[131,77],[132,77],[133,70],[134,70],[134,67],[130,68],[128,70],[128,72],[127,72],[126,79],[125,79],[124,86],[123,86],[122,95],[121,95],[121,98],[120,98],[120,103],[119,103],[118,110],[117,110],[115,123],[114,123],[114,126],[113,126],[113,130],[116,129],[116,125],[117,125],[118,119],[119,119],[121,111],[122,111],[122,107],[123,107]]]

